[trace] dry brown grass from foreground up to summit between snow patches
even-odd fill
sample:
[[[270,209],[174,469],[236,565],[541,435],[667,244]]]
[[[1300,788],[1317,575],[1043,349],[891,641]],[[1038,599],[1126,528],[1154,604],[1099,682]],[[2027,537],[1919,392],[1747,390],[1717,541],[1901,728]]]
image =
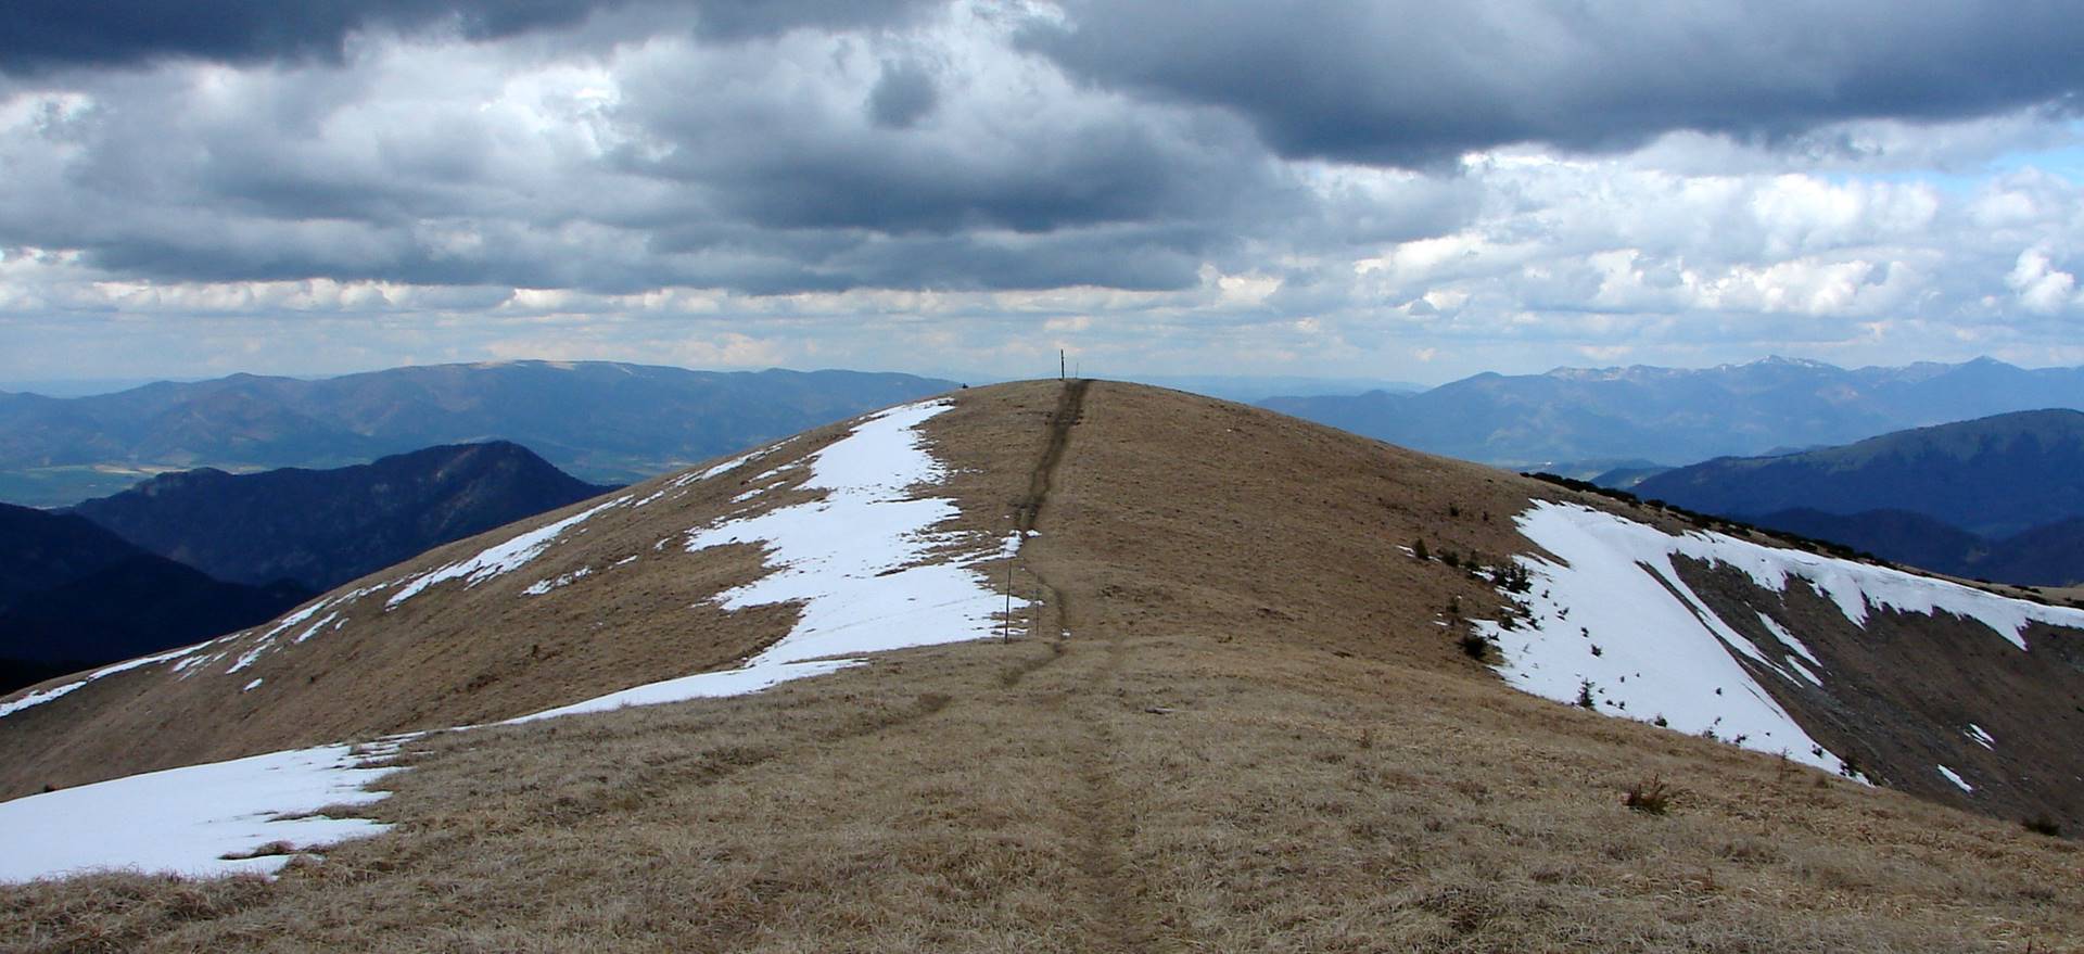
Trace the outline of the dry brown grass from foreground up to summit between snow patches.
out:
[[[0,889],[0,948],[2080,950],[2071,842],[1469,660],[1440,594],[1471,614],[1494,596],[1390,544],[1505,552],[1517,479],[1425,458],[1355,477],[1373,450],[1209,402],[1215,421],[1152,433],[1150,400],[1092,390],[1021,556],[1067,639],[433,735],[373,808],[386,837],[200,887],[229,892],[210,906],[148,879]],[[1011,514],[1023,489],[984,475],[1032,460],[1052,406],[1052,385],[971,392],[977,421],[934,431],[975,469],[965,521]],[[1188,427],[1209,423],[1236,444]],[[1292,481],[1227,487],[1261,452]],[[1623,804],[1646,777],[1682,789],[1663,817]]]

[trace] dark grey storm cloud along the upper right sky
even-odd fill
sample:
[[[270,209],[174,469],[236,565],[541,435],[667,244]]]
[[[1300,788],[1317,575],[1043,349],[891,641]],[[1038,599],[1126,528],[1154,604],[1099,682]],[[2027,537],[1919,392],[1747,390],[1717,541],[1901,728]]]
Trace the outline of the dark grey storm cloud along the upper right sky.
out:
[[[1023,46],[1088,81],[1236,110],[1288,156],[1430,165],[1694,129],[1780,140],[1849,119],[2078,106],[2074,2],[1467,4],[1069,0]]]

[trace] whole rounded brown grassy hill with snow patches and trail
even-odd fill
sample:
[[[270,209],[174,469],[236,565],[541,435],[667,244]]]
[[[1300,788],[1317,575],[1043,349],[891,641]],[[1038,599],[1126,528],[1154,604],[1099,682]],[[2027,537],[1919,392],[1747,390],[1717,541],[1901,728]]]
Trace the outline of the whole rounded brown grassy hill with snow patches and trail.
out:
[[[773,673],[775,648],[840,633],[965,642],[400,739],[390,796],[344,810],[386,833],[275,881],[0,889],[0,944],[1907,952],[2084,933],[2084,858],[2015,821],[2084,821],[2059,710],[2084,617],[1175,392],[1038,381],[890,415],[46,685],[0,717],[0,785]],[[827,471],[877,467],[857,437],[900,419],[936,469],[852,508]],[[913,556],[842,558],[915,506],[936,523],[904,531]],[[804,529],[832,548],[788,562]],[[1011,585],[1011,627],[936,617],[913,579],[936,567],[988,604]],[[1698,667],[1655,671],[1678,656]],[[1667,698],[1690,710],[1644,710]],[[1780,735],[1740,746],[1736,725]],[[1796,737],[1815,752],[1773,754]]]

